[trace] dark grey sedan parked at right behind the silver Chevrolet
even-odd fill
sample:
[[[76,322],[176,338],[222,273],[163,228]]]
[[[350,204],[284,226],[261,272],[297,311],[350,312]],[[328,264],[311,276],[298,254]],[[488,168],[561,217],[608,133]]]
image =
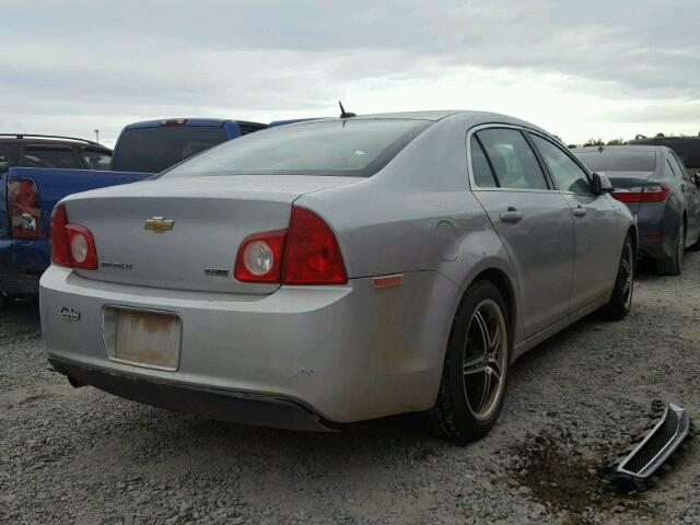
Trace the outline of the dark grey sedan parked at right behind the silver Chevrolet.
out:
[[[700,177],[691,177],[676,153],[663,145],[582,148],[575,155],[605,172],[612,196],[635,215],[639,249],[656,271],[682,271],[686,248],[700,242]]]

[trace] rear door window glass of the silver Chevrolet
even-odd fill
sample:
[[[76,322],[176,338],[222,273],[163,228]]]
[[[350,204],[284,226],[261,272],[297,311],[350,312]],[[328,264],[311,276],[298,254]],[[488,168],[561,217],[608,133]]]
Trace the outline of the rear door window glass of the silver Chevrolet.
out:
[[[492,128],[477,133],[502,188],[547,189],[535,153],[516,129]]]

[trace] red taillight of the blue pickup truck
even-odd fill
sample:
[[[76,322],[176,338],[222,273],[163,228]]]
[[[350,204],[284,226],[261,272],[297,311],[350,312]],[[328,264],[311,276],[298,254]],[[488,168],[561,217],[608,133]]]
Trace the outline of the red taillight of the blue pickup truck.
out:
[[[10,178],[8,180],[8,210],[13,238],[44,238],[39,195],[33,179]]]

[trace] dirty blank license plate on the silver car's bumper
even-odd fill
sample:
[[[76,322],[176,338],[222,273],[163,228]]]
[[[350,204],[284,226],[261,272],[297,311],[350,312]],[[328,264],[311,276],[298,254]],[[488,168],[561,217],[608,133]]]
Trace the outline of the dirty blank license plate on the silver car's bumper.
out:
[[[162,312],[106,307],[104,338],[110,360],[158,370],[179,365],[182,323]]]

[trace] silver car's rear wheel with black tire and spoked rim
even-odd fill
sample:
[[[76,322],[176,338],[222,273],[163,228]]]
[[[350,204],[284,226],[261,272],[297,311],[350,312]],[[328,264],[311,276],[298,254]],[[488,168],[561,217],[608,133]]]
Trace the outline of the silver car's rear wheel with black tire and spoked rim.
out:
[[[490,281],[472,283],[452,324],[438,399],[428,412],[440,436],[464,445],[495,424],[508,389],[511,326],[500,290]]]

